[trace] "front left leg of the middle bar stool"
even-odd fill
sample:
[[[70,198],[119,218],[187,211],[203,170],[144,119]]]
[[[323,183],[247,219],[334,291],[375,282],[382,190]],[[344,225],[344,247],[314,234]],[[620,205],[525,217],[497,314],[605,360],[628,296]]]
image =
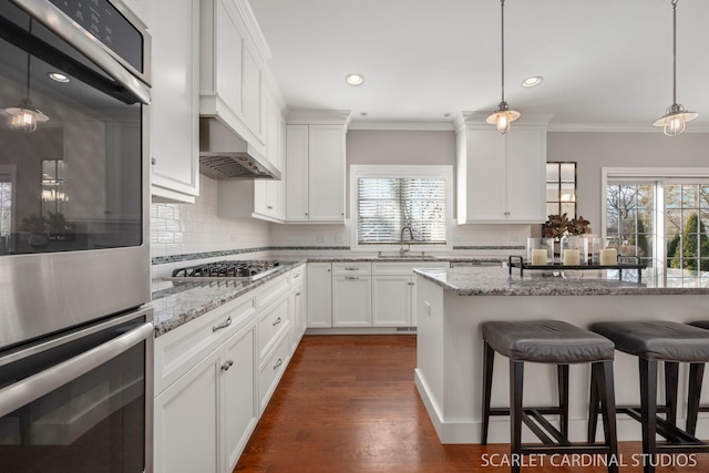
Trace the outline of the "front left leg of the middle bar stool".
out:
[[[640,423],[643,424],[644,473],[655,472],[657,454],[657,361],[638,358],[640,366]]]

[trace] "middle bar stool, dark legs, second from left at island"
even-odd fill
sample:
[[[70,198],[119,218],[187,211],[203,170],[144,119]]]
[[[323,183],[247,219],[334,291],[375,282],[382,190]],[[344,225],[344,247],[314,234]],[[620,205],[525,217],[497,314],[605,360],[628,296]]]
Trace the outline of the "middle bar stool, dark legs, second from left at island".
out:
[[[693,432],[682,431],[677,426],[677,384],[680,362],[701,364],[703,368],[703,363],[709,361],[709,331],[670,321],[597,322],[593,323],[590,329],[610,339],[616,350],[638,357],[639,410],[638,407],[618,407],[616,411],[630,415],[643,426],[643,471],[655,471],[657,453],[708,452],[709,445],[696,439]],[[657,405],[658,361],[665,362],[664,407]],[[692,392],[690,388],[688,394],[690,405],[693,401],[698,402],[699,398],[696,387],[693,389]],[[592,411],[597,412],[597,409],[598,402],[592,399]],[[658,417],[658,413],[664,413],[665,419]],[[595,423],[595,418],[593,419]],[[658,444],[656,434],[665,438],[667,442]],[[593,438],[589,441],[593,441]]]

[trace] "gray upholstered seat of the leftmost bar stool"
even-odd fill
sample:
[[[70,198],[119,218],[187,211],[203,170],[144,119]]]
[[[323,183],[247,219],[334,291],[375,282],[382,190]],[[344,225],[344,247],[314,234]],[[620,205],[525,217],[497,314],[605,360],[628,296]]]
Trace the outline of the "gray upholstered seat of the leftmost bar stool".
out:
[[[535,363],[590,363],[614,356],[610,340],[561,320],[485,322],[483,339],[511,360]]]

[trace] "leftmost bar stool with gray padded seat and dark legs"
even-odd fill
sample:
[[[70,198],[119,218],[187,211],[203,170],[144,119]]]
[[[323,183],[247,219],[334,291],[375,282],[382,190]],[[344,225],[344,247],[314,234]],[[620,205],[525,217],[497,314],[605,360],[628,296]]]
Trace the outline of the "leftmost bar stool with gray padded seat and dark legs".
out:
[[[613,380],[614,347],[610,340],[559,320],[491,321],[482,325],[485,351],[483,354],[483,420],[481,443],[487,444],[491,415],[510,415],[512,472],[520,471],[518,462],[532,453],[595,453],[606,454],[608,471],[618,471],[616,413]],[[510,359],[510,408],[491,409],[492,376],[495,351]],[[524,363],[547,363],[557,367],[559,402],[555,407],[523,407]],[[572,443],[568,440],[568,366],[592,363],[596,374],[595,392],[603,407],[604,444]],[[558,415],[556,429],[545,415]],[[522,423],[542,444],[522,443]]]

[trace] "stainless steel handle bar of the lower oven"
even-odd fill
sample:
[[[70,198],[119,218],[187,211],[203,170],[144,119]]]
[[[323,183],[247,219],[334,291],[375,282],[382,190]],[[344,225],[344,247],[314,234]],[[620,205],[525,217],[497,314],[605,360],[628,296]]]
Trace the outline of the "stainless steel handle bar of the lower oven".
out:
[[[145,322],[105,343],[55,364],[42,372],[0,389],[0,418],[100,367],[153,335],[152,322]]]

